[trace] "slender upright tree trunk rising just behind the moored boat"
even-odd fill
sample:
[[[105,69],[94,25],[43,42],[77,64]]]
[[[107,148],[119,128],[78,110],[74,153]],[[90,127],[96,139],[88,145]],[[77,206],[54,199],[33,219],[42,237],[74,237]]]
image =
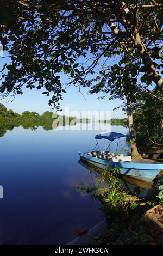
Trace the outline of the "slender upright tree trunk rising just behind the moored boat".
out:
[[[127,114],[128,114],[129,134],[131,137],[133,137],[134,136],[133,113],[132,113],[131,102],[129,101],[128,98],[127,98]],[[132,159],[143,160],[137,150],[136,141],[134,138],[132,138],[132,143],[131,143],[131,157]]]

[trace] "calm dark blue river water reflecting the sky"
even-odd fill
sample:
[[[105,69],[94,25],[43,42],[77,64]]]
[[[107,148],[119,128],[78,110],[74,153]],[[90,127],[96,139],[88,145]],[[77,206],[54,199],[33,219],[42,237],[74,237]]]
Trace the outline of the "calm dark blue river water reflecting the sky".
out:
[[[96,133],[15,127],[0,138],[1,245],[62,245],[102,219],[99,203],[75,189],[92,182],[78,151],[92,150]]]

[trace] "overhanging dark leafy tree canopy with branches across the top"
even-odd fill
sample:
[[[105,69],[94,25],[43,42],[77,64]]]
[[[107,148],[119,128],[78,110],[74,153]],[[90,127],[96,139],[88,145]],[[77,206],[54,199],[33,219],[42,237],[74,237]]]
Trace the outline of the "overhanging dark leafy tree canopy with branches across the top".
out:
[[[44,88],[59,109],[70,84],[132,101],[152,83],[162,92],[162,10],[153,0],[1,0],[0,39],[11,61],[1,97]]]

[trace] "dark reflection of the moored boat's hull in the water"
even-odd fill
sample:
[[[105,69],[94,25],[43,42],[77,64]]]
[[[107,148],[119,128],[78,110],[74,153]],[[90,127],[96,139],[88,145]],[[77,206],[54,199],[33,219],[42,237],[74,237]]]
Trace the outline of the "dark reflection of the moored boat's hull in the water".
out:
[[[79,164],[89,170],[90,173],[101,175],[103,169],[100,169],[93,164],[87,163],[84,160],[79,160]],[[128,176],[120,175],[118,178],[122,181],[122,187],[129,191],[130,194],[136,194],[138,197],[152,197],[156,193],[154,182],[146,183],[141,180],[129,178]],[[107,179],[106,179],[107,181]]]

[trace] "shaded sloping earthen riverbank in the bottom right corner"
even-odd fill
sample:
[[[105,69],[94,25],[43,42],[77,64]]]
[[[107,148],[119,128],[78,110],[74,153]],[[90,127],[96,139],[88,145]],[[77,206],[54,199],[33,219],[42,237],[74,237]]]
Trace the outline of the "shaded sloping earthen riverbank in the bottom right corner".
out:
[[[163,206],[151,206],[135,196],[127,200],[139,206],[129,214],[110,214],[67,245],[163,245]]]

